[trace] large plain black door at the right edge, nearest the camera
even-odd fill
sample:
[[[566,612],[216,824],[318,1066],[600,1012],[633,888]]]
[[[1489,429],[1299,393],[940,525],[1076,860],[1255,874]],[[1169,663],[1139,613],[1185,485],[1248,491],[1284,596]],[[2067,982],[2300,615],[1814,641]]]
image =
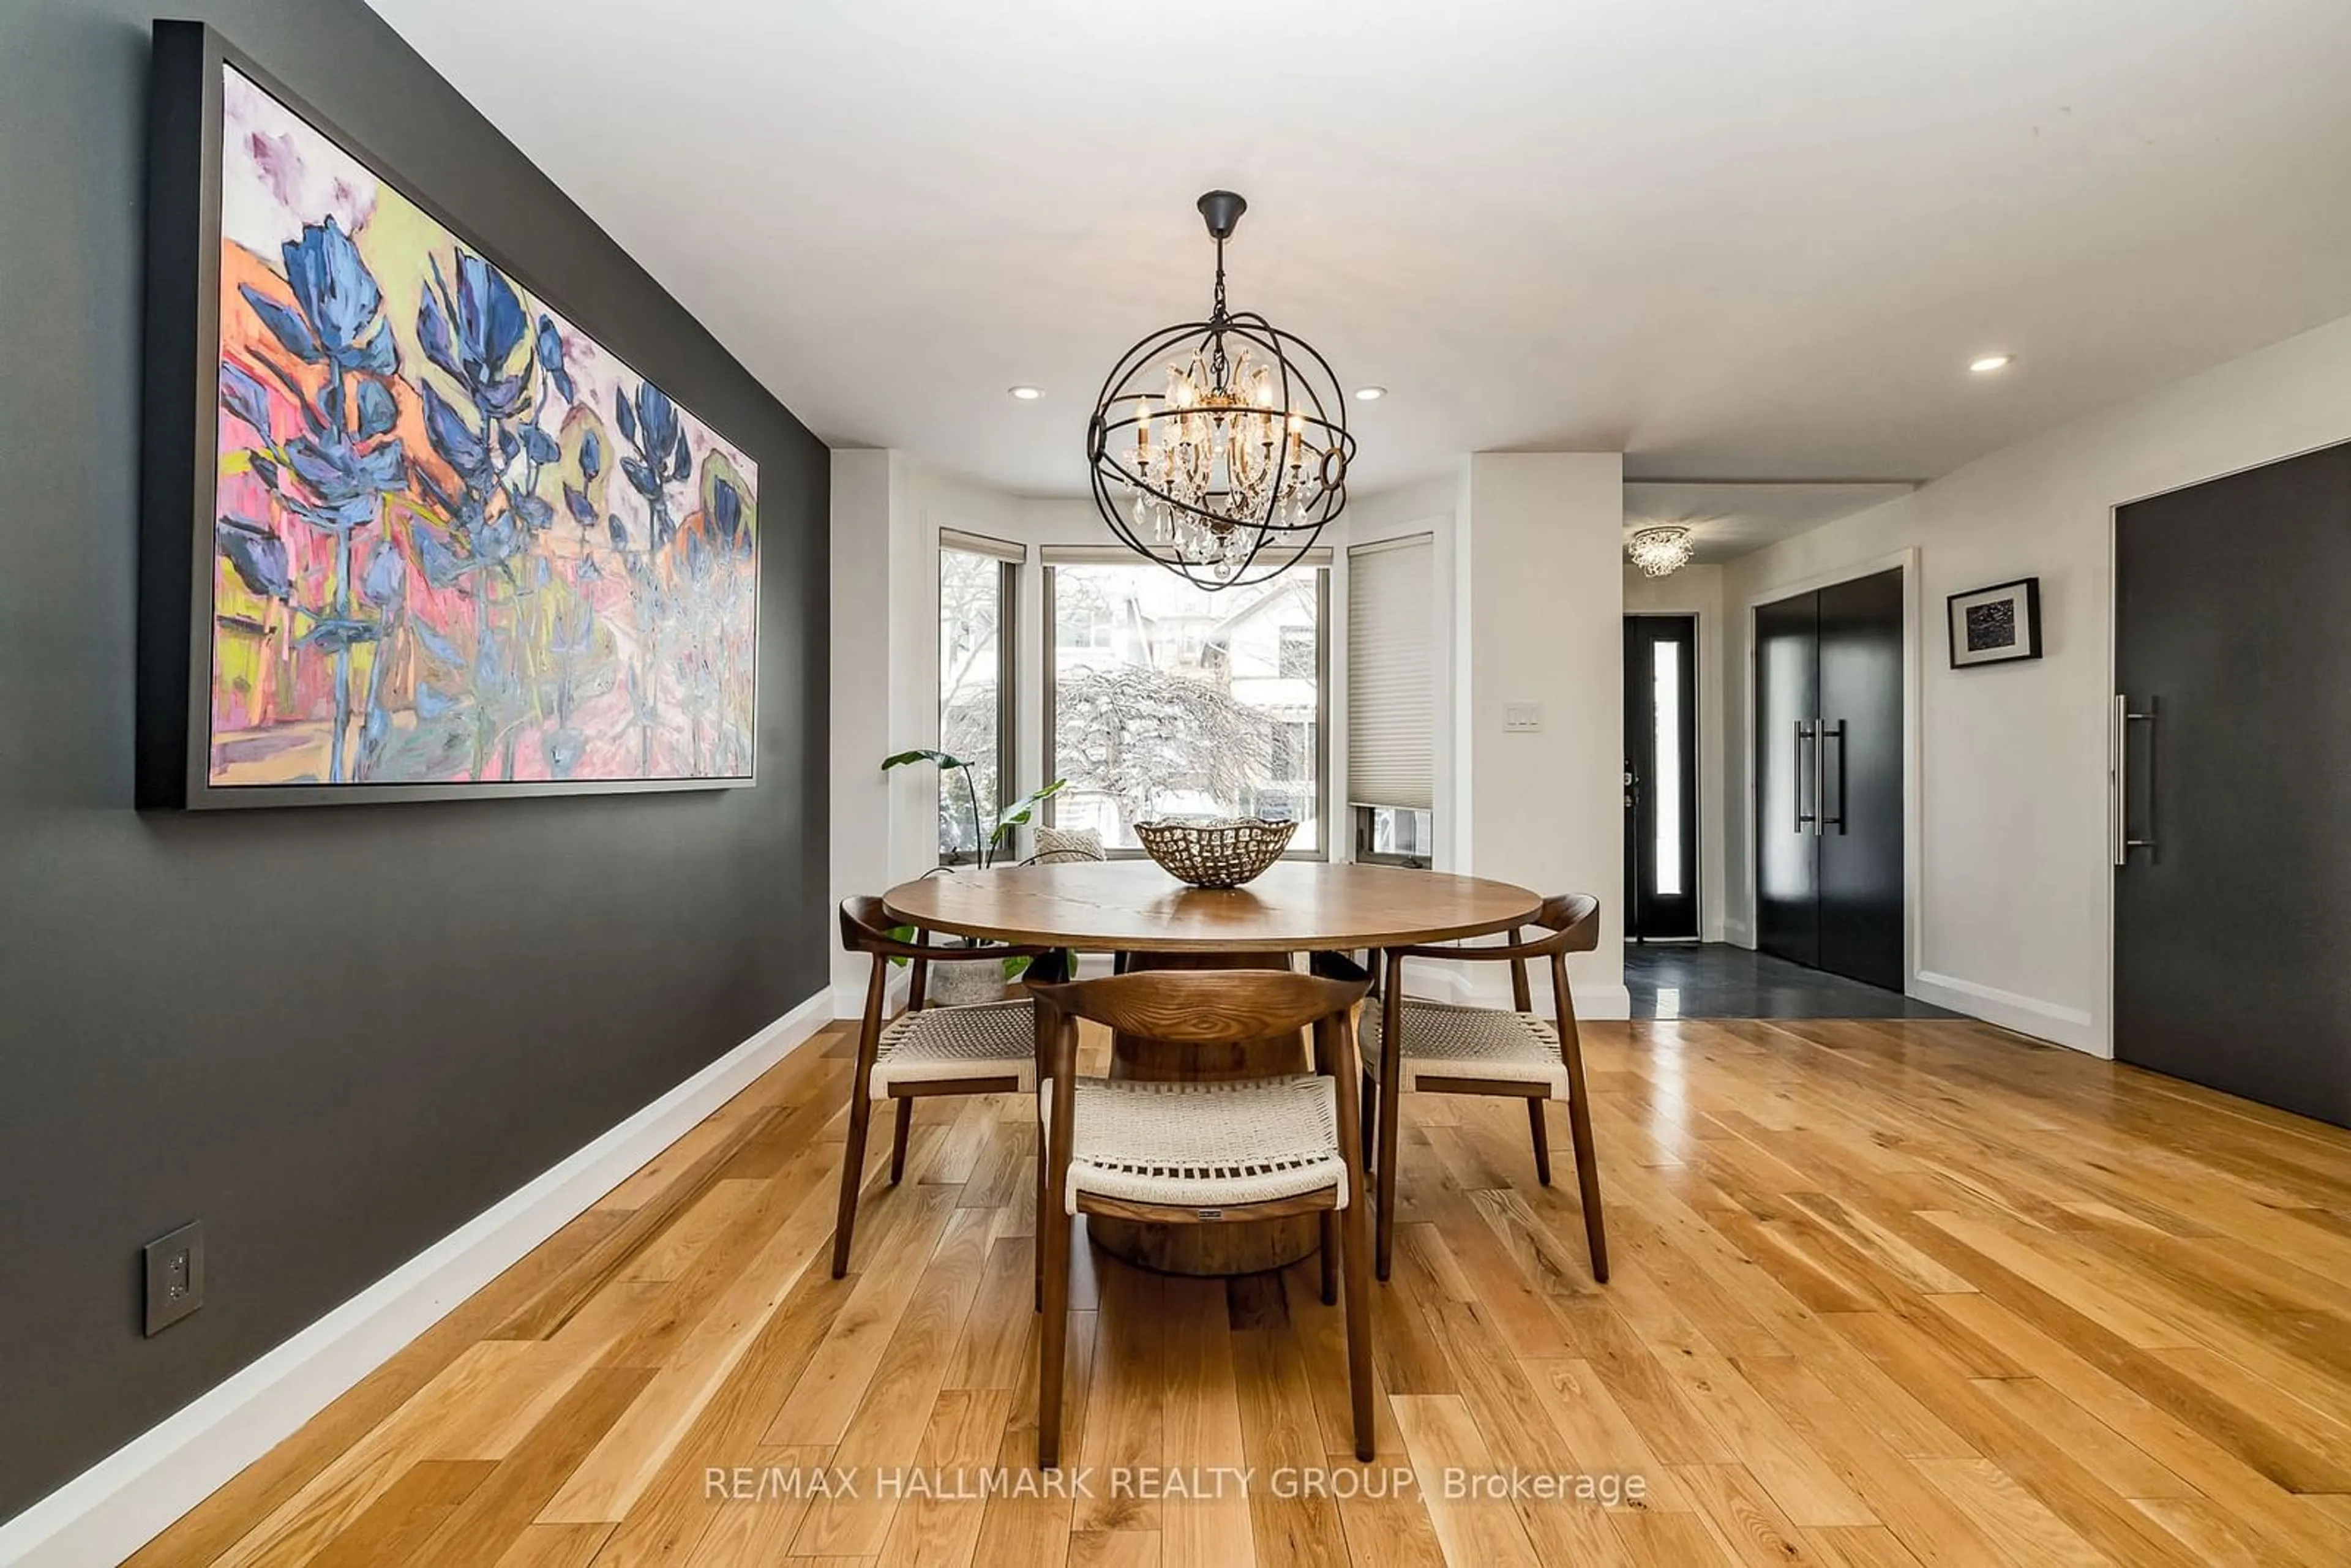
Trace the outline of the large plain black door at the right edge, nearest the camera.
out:
[[[2351,1126],[2351,447],[2116,510],[2114,1053]]]

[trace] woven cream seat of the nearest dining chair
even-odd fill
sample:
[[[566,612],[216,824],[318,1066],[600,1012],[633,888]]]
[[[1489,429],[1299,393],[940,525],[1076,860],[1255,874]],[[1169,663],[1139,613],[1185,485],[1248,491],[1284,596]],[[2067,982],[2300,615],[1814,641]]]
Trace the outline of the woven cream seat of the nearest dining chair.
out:
[[[1347,1204],[1338,1091],[1319,1074],[1227,1084],[1079,1079],[1070,1187],[1077,1197],[1230,1208],[1326,1187]],[[1044,1095],[1046,1131],[1053,1098]]]

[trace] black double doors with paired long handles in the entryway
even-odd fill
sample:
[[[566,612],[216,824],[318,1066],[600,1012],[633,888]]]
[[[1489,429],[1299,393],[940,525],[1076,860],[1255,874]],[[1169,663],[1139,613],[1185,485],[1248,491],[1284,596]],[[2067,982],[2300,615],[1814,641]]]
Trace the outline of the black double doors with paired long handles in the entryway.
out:
[[[1756,947],[1902,990],[1902,571],[1756,609]]]

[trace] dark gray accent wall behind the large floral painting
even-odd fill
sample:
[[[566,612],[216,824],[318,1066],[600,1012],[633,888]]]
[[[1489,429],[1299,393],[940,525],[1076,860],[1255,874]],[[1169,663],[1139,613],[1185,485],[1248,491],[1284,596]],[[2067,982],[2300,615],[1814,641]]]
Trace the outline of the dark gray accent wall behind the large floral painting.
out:
[[[759,785],[132,809],[150,12],[0,0],[0,1519],[825,987],[823,444],[360,0],[179,9],[757,458]]]

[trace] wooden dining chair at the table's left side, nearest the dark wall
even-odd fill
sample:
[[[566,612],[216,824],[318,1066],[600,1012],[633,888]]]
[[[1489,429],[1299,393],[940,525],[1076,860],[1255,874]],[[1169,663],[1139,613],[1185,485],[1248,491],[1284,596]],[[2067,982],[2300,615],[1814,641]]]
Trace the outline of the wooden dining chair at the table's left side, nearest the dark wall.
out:
[[[905,1135],[915,1119],[915,1100],[924,1095],[1030,1093],[1037,1088],[1037,1009],[1018,1001],[983,1001],[978,1006],[924,1006],[931,964],[1002,964],[1030,959],[1037,978],[1058,976],[1053,947],[1016,947],[985,943],[957,947],[891,936],[898,922],[879,898],[842,900],[842,947],[872,954],[865,983],[865,1018],[858,1025],[858,1065],[849,1081],[849,1147],[842,1152],[842,1208],[832,1225],[832,1276],[849,1272],[849,1239],[858,1225],[858,1187],[865,1180],[865,1128],[877,1100],[898,1103],[898,1128],[891,1138],[889,1180],[905,1175]],[[889,1006],[891,959],[912,964],[907,1009],[884,1023]],[[1046,969],[1037,969],[1044,964]]]

